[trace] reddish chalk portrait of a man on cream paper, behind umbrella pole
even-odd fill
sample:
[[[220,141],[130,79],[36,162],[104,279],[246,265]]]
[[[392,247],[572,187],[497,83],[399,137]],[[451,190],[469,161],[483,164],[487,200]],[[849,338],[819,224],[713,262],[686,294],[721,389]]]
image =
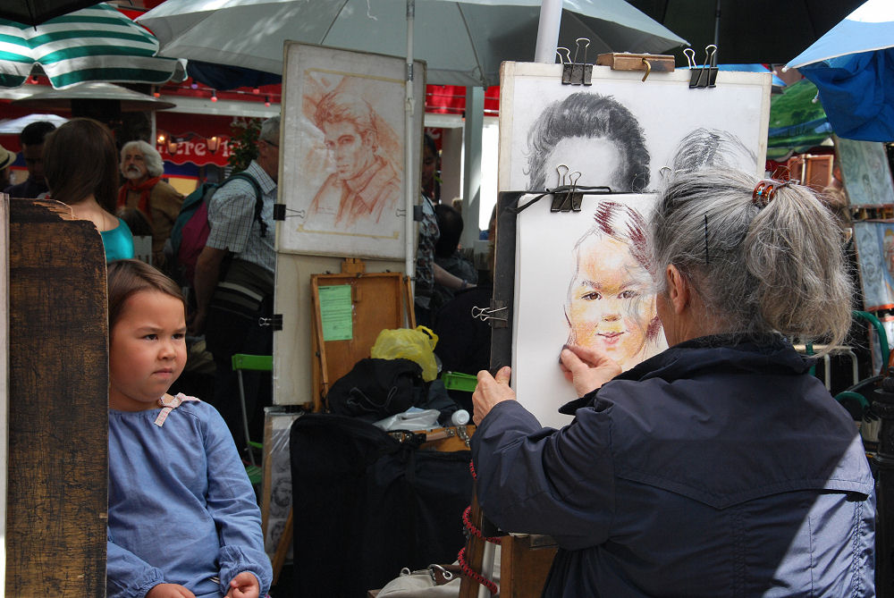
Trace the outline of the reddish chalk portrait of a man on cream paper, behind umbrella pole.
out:
[[[403,58],[287,42],[277,250],[404,257],[407,190],[419,188],[425,64],[416,63],[407,173]],[[418,194],[417,194],[418,195]],[[411,217],[411,216],[410,216]]]

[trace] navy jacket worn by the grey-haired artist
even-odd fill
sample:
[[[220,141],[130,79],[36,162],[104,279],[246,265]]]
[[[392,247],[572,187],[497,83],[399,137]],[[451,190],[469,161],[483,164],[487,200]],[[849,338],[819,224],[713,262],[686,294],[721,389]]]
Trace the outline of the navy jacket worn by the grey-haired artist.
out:
[[[472,438],[482,509],[558,541],[544,596],[874,596],[873,476],[809,366],[782,339],[706,337],[558,432],[499,403]]]

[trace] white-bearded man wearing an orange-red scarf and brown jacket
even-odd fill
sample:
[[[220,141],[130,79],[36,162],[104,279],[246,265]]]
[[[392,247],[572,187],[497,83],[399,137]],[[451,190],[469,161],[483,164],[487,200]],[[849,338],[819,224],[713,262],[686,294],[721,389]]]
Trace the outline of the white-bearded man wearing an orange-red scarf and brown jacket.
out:
[[[118,190],[118,211],[133,208],[146,218],[152,229],[152,264],[164,268],[164,241],[171,236],[183,196],[162,181],[162,156],[146,141],[138,139],[124,144],[121,173],[125,182]]]

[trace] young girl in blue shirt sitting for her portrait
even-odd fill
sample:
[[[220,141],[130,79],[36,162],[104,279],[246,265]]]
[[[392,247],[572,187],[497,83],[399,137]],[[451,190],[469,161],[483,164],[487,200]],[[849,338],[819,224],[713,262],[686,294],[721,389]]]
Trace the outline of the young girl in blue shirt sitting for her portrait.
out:
[[[108,299],[108,596],[266,595],[261,515],[223,417],[167,393],[186,362],[179,287],[122,260]]]

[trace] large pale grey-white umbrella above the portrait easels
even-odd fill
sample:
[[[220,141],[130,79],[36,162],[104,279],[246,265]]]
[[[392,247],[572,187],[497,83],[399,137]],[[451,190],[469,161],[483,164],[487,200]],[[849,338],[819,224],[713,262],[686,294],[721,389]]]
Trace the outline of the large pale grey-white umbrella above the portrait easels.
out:
[[[487,86],[504,60],[534,59],[540,0],[416,0],[412,54],[427,82]],[[589,38],[600,52],[658,53],[686,43],[623,0],[564,0],[561,46]],[[405,0],[167,0],[137,19],[161,55],[283,72],[287,39],[407,54]],[[581,58],[581,56],[578,56]]]

